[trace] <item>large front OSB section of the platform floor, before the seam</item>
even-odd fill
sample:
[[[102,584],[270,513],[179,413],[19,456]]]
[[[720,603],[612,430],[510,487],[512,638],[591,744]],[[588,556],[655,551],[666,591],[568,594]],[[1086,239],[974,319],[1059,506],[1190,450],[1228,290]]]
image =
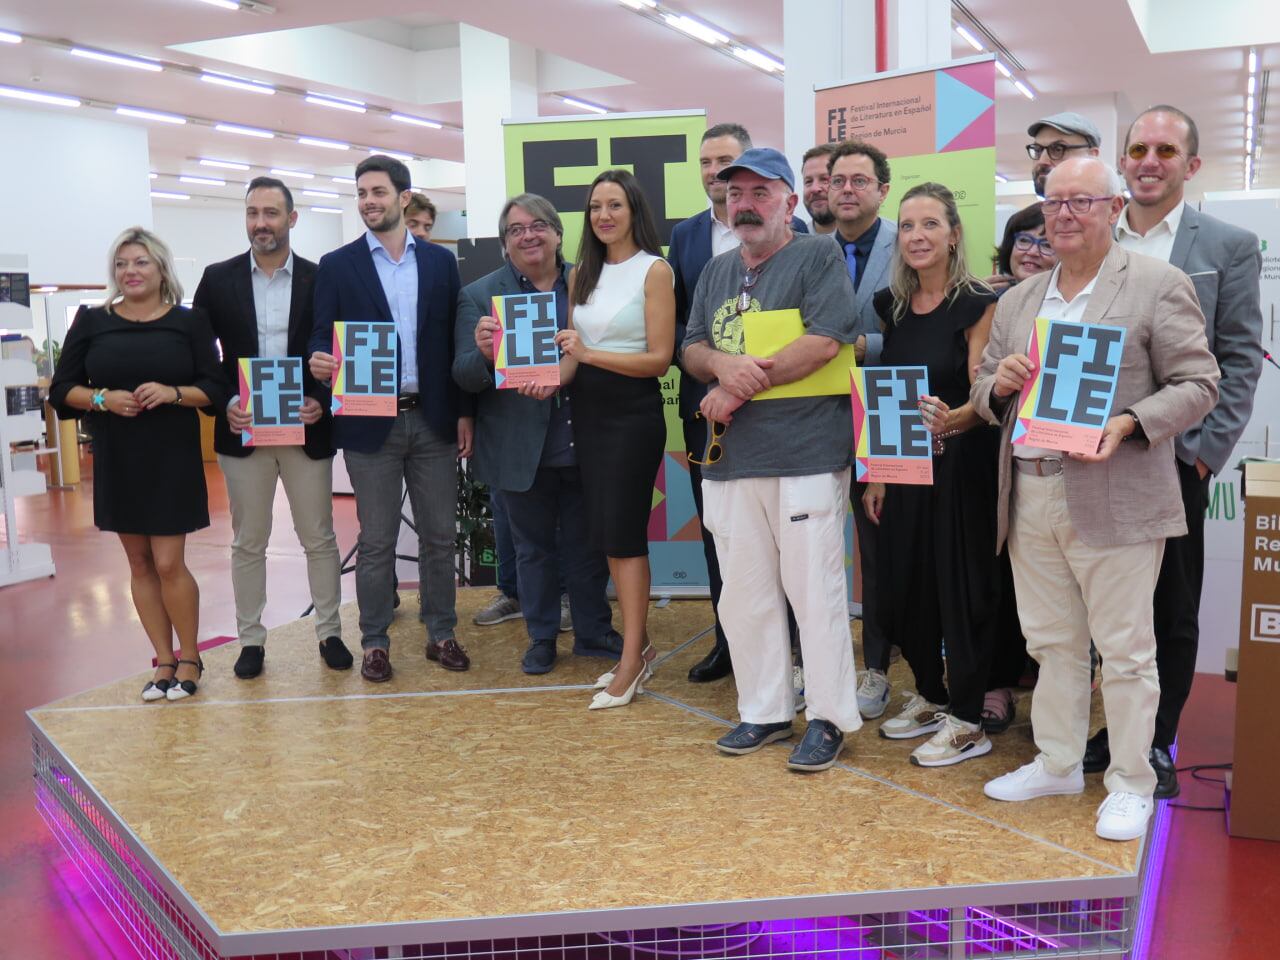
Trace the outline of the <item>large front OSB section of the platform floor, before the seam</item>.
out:
[[[224,932],[1114,876],[723,727],[589,694],[45,710]],[[1075,810],[1079,813],[1079,810]]]

